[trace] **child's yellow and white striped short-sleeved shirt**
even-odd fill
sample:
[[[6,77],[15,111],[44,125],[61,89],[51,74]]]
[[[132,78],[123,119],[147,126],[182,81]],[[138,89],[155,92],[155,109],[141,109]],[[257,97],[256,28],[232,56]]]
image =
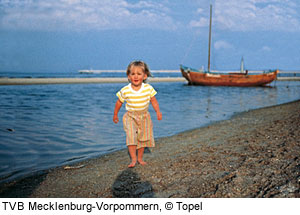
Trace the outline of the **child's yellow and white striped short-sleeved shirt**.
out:
[[[142,87],[138,91],[133,90],[131,84],[128,84],[117,93],[117,97],[122,103],[126,101],[126,110],[141,111],[148,109],[150,99],[156,93],[150,84],[142,83]]]

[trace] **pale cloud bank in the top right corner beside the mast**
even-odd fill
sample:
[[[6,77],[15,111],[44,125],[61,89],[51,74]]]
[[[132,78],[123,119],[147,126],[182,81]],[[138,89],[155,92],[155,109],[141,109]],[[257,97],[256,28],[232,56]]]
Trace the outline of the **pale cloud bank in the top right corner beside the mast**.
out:
[[[230,31],[299,31],[299,9],[296,0],[215,0],[213,24]],[[191,26],[202,27],[196,22]]]

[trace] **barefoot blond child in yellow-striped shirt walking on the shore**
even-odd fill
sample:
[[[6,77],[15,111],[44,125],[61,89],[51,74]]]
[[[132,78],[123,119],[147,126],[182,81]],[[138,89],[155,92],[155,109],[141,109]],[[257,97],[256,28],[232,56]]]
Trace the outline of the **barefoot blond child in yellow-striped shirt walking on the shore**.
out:
[[[162,114],[155,98],[157,92],[150,84],[144,83],[147,77],[151,76],[147,64],[133,61],[128,65],[126,73],[130,83],[117,93],[119,99],[115,105],[113,121],[119,122],[118,113],[126,101],[127,112],[123,116],[123,126],[131,157],[128,167],[134,167],[136,162],[145,165],[146,162],[143,161],[145,147],[155,146],[152,121],[148,112],[149,103],[151,102],[158,120],[162,119]]]

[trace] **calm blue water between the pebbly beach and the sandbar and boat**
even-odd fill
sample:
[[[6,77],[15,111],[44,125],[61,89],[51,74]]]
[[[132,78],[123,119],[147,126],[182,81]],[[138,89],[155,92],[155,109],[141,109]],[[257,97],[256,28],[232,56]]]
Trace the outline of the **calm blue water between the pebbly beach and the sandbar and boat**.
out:
[[[159,122],[150,108],[155,137],[300,98],[300,82],[253,88],[152,85],[163,113]],[[115,93],[122,86],[0,86],[0,182],[125,148],[122,123],[112,122]]]

